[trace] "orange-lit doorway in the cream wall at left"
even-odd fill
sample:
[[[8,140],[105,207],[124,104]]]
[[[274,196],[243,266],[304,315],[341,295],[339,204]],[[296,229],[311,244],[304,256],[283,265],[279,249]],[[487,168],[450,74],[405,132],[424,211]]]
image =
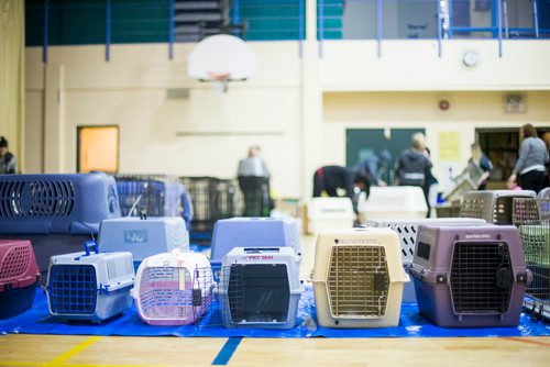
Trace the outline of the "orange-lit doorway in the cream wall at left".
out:
[[[79,174],[119,170],[119,126],[78,126],[77,140]]]

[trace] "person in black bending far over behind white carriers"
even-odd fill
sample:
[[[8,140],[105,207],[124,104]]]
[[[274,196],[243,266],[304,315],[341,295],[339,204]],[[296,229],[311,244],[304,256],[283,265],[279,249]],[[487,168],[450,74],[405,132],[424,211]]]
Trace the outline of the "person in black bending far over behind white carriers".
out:
[[[314,198],[319,198],[322,191],[329,197],[338,197],[337,189],[343,189],[345,196],[353,202],[356,201],[356,191],[364,191],[366,197],[371,192],[371,179],[362,170],[350,169],[341,166],[324,166],[314,175]]]

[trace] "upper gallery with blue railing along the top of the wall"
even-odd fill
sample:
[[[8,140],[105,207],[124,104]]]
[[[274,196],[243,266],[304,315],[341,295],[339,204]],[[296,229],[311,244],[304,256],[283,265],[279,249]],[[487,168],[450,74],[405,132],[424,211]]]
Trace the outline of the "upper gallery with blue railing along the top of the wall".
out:
[[[219,12],[201,19],[201,9]],[[550,38],[550,0],[318,0],[317,38]],[[246,41],[306,38],[306,0],[26,0],[26,45],[196,42],[216,33]],[[199,7],[200,8],[200,7]],[[202,14],[204,15],[204,14]],[[212,20],[213,19],[213,20]],[[213,23],[213,29],[212,29]],[[205,30],[205,25],[210,30]],[[218,26],[218,27],[217,27]],[[191,30],[191,31],[189,31]],[[189,35],[196,32],[196,35]]]

